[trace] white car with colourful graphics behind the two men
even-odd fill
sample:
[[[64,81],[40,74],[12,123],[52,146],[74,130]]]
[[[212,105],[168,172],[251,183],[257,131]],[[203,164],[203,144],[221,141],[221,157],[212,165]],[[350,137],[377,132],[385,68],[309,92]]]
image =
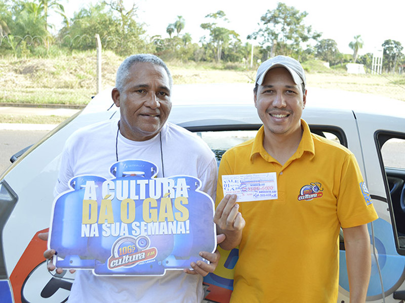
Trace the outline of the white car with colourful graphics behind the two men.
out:
[[[218,163],[224,151],[261,126],[249,84],[192,84],[173,89],[169,121],[196,132]],[[46,269],[46,241],[62,147],[76,129],[119,119],[111,89],[30,147],[0,177],[0,301],[64,302],[74,274]],[[372,275],[368,302],[405,300],[405,103],[372,94],[309,88],[303,118],[312,132],[347,146],[356,156],[379,219],[370,223]],[[227,302],[238,251],[221,250],[205,278],[206,301]],[[349,301],[343,236],[339,302]],[[292,288],[294,291],[294,288]]]

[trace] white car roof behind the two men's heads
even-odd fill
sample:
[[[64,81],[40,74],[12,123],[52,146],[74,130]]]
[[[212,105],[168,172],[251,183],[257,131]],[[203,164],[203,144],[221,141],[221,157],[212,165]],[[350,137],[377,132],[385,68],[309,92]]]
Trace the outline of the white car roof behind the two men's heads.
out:
[[[197,121],[201,125],[260,124],[253,101],[253,87],[252,83],[174,85],[169,121],[184,127],[190,123],[196,125]],[[108,109],[111,117],[118,117],[111,89],[109,87],[96,95],[83,114]],[[405,118],[405,102],[376,94],[308,87],[303,117],[332,112]]]

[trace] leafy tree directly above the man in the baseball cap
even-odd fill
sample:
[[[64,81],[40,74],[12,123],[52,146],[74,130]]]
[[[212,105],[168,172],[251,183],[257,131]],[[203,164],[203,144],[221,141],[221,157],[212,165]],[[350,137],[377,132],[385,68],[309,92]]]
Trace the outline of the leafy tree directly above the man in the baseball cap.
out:
[[[311,26],[304,25],[307,15],[305,11],[278,3],[274,10],[267,10],[260,18],[260,29],[250,34],[248,39],[258,39],[268,54],[273,47],[274,55],[299,56],[303,51],[302,43],[310,39],[316,41],[321,35],[312,32]]]

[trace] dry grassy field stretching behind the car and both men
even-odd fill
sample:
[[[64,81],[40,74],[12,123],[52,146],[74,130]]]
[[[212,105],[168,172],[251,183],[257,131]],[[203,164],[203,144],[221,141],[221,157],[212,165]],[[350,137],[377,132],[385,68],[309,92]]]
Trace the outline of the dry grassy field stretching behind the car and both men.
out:
[[[111,52],[102,55],[102,86],[113,86],[123,60]],[[252,83],[257,66],[235,63],[167,62],[175,84]],[[303,63],[309,87],[373,93],[405,100],[404,75],[351,75],[345,68],[327,68],[324,62]],[[393,81],[393,82],[392,82]],[[0,58],[0,104],[86,105],[96,94],[96,53],[61,55],[57,58]]]

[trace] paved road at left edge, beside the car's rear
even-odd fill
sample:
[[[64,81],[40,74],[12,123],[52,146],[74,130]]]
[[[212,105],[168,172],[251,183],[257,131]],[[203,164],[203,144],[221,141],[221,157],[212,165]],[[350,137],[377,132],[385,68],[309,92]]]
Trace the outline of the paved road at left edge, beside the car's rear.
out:
[[[0,174],[11,165],[11,156],[37,142],[48,132],[48,130],[0,130]]]

